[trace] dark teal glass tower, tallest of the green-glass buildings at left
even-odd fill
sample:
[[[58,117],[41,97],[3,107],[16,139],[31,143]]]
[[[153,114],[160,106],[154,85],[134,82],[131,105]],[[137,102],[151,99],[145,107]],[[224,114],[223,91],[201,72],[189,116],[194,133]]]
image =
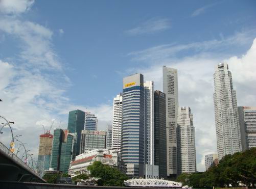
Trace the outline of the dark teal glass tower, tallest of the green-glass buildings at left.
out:
[[[70,111],[68,114],[67,130],[77,133],[76,155],[80,152],[81,130],[84,129],[85,112],[81,110]]]

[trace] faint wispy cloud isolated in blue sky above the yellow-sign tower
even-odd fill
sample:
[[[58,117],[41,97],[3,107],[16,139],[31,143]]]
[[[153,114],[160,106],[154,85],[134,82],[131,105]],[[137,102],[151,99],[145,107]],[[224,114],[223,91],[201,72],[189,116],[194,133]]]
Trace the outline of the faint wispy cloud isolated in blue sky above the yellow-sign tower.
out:
[[[126,31],[129,35],[154,34],[167,30],[171,27],[170,20],[163,18],[152,18],[141,23],[140,26]]]

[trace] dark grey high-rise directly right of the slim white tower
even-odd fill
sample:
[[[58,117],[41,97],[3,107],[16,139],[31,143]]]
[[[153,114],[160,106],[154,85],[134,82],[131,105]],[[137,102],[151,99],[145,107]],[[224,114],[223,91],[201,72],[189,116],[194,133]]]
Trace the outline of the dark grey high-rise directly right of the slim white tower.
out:
[[[159,178],[167,177],[166,155],[166,94],[154,92],[154,161]]]

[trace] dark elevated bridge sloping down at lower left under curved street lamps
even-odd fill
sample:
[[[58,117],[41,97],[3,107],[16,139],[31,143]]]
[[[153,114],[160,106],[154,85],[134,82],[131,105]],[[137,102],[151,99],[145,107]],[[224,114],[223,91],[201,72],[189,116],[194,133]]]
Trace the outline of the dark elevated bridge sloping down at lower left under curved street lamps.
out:
[[[0,142],[0,181],[45,182],[33,169]]]

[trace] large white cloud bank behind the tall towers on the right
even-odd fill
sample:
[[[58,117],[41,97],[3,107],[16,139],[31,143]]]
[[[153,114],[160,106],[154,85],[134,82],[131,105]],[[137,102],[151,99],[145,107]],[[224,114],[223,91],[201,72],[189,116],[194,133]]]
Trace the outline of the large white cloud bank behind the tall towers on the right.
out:
[[[250,36],[250,37],[249,37]],[[204,41],[184,45],[166,44],[139,52],[132,52],[132,60],[147,64],[147,69],[133,68],[132,72],[144,74],[153,80],[155,89],[162,90],[162,65],[178,69],[179,105],[190,106],[196,130],[197,169],[203,171],[204,155],[217,151],[213,106],[213,74],[219,62],[227,62],[237,90],[238,105],[256,105],[256,39],[242,56],[230,52],[215,53],[216,49],[247,44],[252,32],[237,33],[222,40]],[[245,39],[245,41],[241,40]],[[251,43],[251,42],[250,42]],[[193,55],[176,57],[190,49]],[[144,66],[145,67],[145,66]],[[128,74],[128,73],[127,73]]]

